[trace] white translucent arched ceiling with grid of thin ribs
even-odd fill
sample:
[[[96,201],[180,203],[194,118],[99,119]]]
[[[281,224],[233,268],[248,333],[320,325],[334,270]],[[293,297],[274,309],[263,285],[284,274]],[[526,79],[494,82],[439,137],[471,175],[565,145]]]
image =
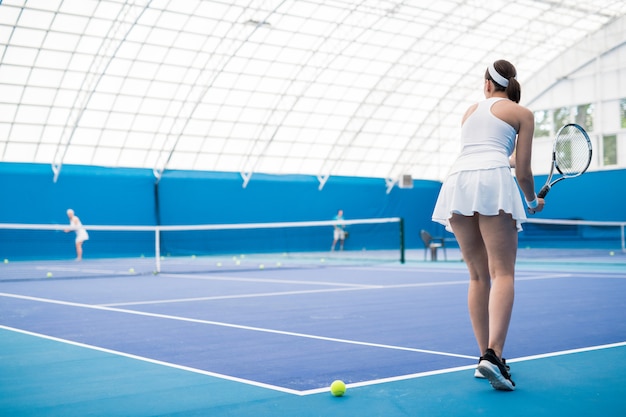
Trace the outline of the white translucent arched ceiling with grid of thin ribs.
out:
[[[524,104],[625,16],[623,0],[4,0],[0,162],[440,180],[491,61],[517,66]]]

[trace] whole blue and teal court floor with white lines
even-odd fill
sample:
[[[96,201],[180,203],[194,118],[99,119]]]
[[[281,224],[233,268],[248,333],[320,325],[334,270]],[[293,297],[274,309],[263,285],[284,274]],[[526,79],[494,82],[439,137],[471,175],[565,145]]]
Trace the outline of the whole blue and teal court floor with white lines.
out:
[[[520,250],[515,392],[473,376],[454,252],[160,274],[0,264],[0,415],[626,415],[626,254],[604,252]]]

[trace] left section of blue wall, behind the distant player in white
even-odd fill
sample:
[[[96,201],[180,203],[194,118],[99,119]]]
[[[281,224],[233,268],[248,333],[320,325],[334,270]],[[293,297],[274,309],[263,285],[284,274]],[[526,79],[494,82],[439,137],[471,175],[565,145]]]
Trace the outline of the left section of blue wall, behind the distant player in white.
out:
[[[72,208],[84,224],[153,225],[154,176],[150,170],[66,165],[53,181],[50,165],[0,164],[0,222],[67,224]],[[139,256],[154,252],[150,233],[90,232],[85,257]],[[73,258],[74,233],[0,229],[0,257]]]

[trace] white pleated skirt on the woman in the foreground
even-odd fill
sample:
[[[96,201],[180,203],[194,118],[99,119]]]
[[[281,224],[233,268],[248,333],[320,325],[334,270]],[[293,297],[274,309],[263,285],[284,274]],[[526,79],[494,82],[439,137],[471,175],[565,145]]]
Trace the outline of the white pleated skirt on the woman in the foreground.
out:
[[[453,213],[473,216],[480,213],[496,216],[500,210],[513,216],[517,230],[522,230],[526,211],[517,183],[508,167],[461,171],[446,178],[439,191],[433,221],[452,232]]]

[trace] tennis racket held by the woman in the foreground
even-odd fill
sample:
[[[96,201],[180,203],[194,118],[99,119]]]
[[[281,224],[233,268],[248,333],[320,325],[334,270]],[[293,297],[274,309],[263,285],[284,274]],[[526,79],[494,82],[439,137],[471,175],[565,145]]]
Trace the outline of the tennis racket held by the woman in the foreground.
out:
[[[554,138],[550,175],[537,197],[544,198],[559,181],[584,174],[591,163],[591,152],[591,140],[585,129],[574,123],[560,128]],[[561,176],[553,180],[555,170]]]

